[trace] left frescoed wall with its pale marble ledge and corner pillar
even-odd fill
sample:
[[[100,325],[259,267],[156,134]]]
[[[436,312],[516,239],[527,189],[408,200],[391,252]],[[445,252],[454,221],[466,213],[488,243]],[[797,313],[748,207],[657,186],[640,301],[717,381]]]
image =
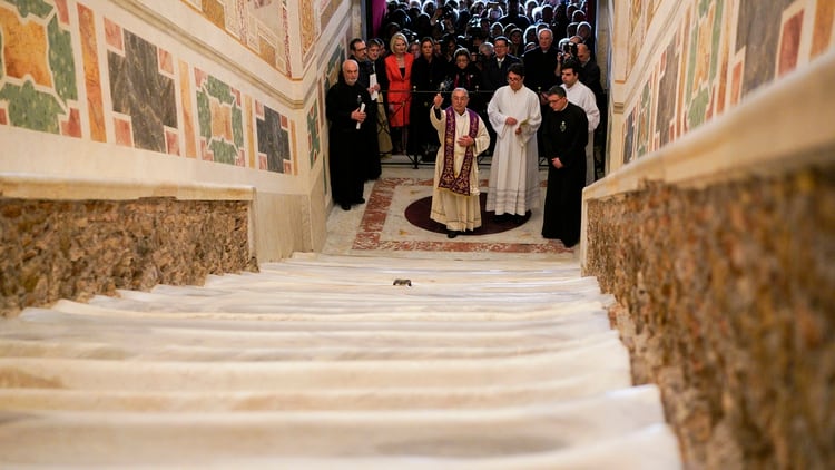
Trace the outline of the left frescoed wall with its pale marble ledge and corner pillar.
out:
[[[259,261],[321,246],[331,205],[321,78],[332,74],[322,58],[344,56],[350,9],[0,0],[0,185],[49,177],[58,197],[82,199],[126,184],[119,197],[253,188]]]

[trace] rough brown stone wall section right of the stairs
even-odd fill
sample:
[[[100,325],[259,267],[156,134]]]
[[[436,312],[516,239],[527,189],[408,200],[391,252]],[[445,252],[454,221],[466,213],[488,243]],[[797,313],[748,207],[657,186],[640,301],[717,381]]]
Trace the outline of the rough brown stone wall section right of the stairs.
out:
[[[588,207],[637,383],[662,390],[689,468],[835,462],[835,164]]]

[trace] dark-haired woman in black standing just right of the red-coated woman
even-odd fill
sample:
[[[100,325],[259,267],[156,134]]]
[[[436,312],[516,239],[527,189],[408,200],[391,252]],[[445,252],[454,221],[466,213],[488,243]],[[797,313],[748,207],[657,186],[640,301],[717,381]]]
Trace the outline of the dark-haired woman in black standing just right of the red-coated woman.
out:
[[[421,39],[421,53],[412,65],[412,116],[409,129],[409,154],[421,155],[422,161],[433,161],[440,143],[438,131],[429,119],[435,94],[446,76],[448,66],[435,53],[435,41]]]

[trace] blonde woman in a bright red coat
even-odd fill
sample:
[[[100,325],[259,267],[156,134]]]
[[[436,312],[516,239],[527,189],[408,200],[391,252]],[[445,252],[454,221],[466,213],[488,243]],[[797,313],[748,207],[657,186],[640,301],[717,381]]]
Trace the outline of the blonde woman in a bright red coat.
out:
[[[403,153],[406,146],[406,129],[412,101],[412,63],[414,56],[409,53],[405,35],[397,32],[389,42],[391,53],[385,58],[385,76],[389,79],[389,126],[395,153]]]

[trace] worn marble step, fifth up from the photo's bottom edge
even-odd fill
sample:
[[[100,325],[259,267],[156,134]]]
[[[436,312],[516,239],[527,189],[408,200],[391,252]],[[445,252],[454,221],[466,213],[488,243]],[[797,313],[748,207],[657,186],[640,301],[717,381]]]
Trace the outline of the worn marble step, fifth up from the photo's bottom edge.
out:
[[[252,346],[259,344],[281,346],[286,344],[326,345],[332,341],[351,342],[361,345],[533,345],[576,341],[589,334],[610,331],[608,315],[603,312],[577,313],[538,319],[536,321],[430,321],[410,319],[402,321],[328,321],[330,315],[318,321],[267,321],[247,315],[237,317],[185,317],[177,315],[95,312],[66,313],[55,310],[29,309],[20,317],[6,322],[0,337],[38,337],[49,335],[72,336],[89,334],[136,334],[153,331],[155,334],[175,336],[188,343],[195,336],[202,341],[234,340],[246,333]],[[407,341],[402,341],[407,340]],[[321,343],[321,344],[317,344]],[[343,343],[346,344],[346,343]]]

